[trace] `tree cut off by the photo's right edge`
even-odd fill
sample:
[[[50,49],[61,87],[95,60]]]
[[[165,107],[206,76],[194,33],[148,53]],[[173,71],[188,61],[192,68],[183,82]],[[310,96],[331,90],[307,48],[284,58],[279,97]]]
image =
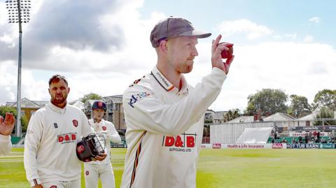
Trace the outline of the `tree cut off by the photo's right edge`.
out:
[[[336,111],[336,90],[323,89],[317,92],[314,97],[314,110],[323,106],[328,107],[332,111]]]

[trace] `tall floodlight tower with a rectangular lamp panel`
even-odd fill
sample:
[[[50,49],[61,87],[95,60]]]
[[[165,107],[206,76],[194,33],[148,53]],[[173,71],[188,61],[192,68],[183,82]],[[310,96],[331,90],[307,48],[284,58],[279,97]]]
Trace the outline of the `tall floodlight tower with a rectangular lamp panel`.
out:
[[[7,0],[8,23],[19,23],[19,58],[18,58],[18,93],[16,98],[16,110],[18,111],[16,120],[16,135],[21,136],[21,54],[22,54],[22,23],[28,23],[30,0]]]

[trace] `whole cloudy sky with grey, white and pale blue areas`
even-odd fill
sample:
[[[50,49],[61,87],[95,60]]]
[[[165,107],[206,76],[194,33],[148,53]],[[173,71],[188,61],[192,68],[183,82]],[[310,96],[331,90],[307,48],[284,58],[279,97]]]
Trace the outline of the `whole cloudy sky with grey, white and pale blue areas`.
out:
[[[210,31],[199,39],[192,73],[196,85],[211,71],[211,39],[235,43],[235,60],[213,110],[244,110],[263,88],[306,96],[336,89],[336,2],[200,0],[34,0],[22,27],[22,98],[48,101],[48,79],[66,75],[69,101],[94,92],[123,94],[156,64],[149,35],[174,15]],[[0,104],[16,101],[18,25],[8,24],[0,1]]]

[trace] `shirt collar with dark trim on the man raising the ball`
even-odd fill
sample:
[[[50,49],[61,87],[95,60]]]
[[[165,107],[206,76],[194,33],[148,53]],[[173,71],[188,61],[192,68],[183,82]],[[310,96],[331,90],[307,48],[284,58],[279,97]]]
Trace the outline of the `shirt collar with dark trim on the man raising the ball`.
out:
[[[188,89],[188,83],[186,82],[186,78],[184,78],[183,75],[181,75],[181,89],[174,87],[174,85],[165,78],[165,75],[163,75],[159,69],[154,66],[152,73],[151,73],[155,80],[159,82],[161,87],[166,89],[167,92],[174,92],[175,94],[188,94],[189,89]]]

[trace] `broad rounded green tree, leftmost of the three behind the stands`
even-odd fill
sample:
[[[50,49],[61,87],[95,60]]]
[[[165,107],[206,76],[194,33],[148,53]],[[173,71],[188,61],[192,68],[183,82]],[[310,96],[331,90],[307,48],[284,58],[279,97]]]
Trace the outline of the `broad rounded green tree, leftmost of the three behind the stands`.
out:
[[[286,113],[288,108],[285,104],[288,96],[281,89],[262,89],[256,94],[249,95],[247,99],[246,115],[253,115],[259,108],[263,115],[266,112],[271,114]]]

